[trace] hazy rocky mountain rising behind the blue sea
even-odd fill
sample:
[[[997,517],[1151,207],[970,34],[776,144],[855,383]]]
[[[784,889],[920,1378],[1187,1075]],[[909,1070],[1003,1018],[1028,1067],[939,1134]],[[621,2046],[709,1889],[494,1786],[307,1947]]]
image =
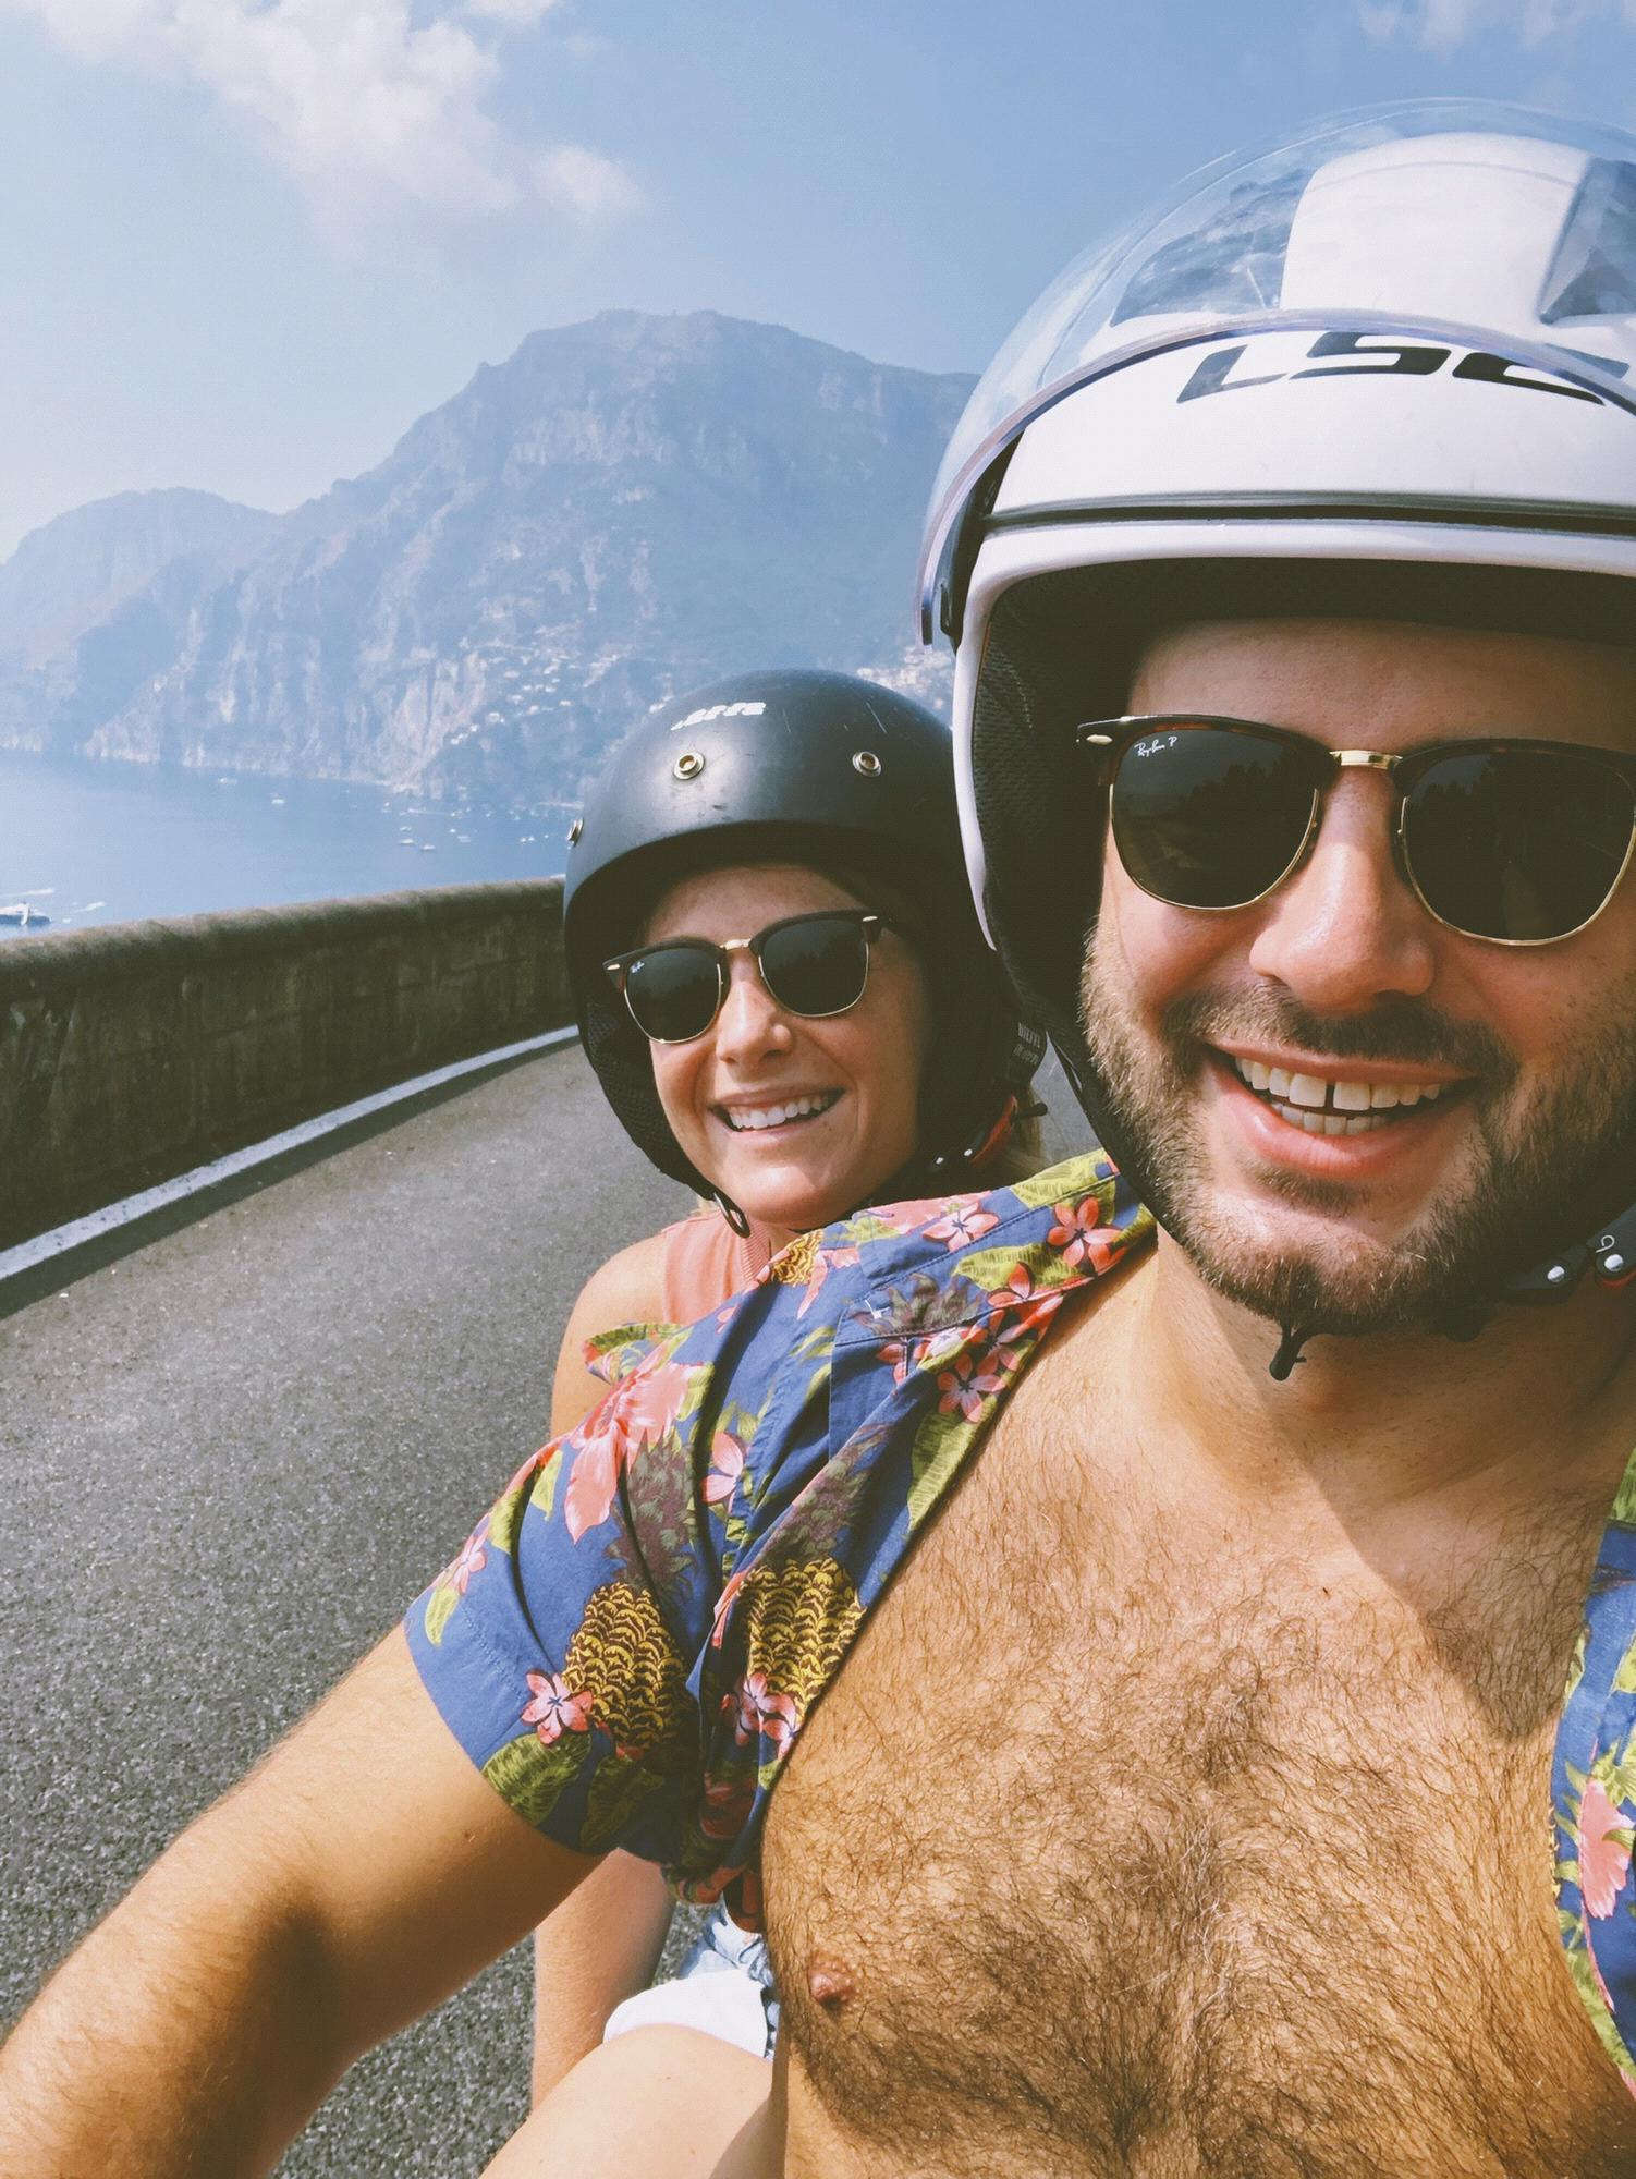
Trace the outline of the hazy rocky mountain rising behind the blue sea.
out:
[[[200,521],[148,567],[113,543],[126,501],[26,538],[0,569],[0,743],[542,802],[738,667],[937,695],[908,654],[915,540],[969,388],[712,312],[532,333],[292,514],[231,510],[213,543]],[[65,525],[129,580],[41,591]]]

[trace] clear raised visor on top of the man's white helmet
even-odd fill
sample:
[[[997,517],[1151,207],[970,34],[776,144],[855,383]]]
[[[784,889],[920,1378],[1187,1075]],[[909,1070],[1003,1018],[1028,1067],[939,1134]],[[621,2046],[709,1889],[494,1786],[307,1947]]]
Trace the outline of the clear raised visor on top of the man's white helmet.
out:
[[[1200,168],[1076,257],[978,379],[932,486],[924,638],[972,495],[1035,416],[1144,355],[1279,327],[1425,333],[1634,405],[1636,137],[1436,98]]]

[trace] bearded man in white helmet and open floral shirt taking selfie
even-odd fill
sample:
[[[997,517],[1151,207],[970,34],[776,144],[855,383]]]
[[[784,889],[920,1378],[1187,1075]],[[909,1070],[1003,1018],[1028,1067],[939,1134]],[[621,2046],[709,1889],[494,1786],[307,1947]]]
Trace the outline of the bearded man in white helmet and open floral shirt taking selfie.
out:
[[[1089,1161],[664,1338],[68,1963],[0,2168],[266,2168],[623,1841],[765,1904],[769,2170],[1636,2170],[1636,146],[1590,150],[1229,174],[956,449],[980,898],[1157,1244]]]

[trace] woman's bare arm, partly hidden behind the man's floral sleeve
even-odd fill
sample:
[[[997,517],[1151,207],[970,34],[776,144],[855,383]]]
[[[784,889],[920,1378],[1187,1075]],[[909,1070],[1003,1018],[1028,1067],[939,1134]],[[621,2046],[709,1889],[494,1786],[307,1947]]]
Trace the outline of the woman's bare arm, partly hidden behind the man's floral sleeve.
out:
[[[573,1429],[606,1395],[584,1362],[584,1342],[616,1325],[664,1314],[664,1235],[621,1249],[593,1273],[573,1305],[551,1384],[551,1434]],[[645,1989],[664,1950],[671,1894],[649,1861],[608,1854],[566,1913],[534,1937],[534,2101],[601,2042],[608,2013]]]

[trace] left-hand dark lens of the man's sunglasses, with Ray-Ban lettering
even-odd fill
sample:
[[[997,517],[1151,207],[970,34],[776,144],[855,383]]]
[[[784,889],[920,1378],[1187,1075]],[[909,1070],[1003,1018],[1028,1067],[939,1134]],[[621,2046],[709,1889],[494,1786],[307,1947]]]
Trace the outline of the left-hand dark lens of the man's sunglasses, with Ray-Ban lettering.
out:
[[[1240,909],[1301,854],[1318,763],[1224,726],[1155,728],[1113,778],[1120,861],[1179,909]]]

